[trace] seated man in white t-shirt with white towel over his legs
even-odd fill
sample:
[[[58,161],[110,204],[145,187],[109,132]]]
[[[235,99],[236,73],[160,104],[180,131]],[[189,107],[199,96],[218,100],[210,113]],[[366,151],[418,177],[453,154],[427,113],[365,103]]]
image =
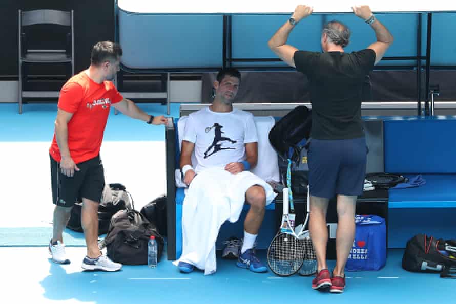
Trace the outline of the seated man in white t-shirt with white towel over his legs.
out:
[[[194,268],[216,271],[215,241],[221,225],[239,219],[250,204],[237,266],[254,272],[267,268],[253,245],[265,206],[274,199],[271,186],[249,172],[258,159],[258,136],[251,113],[233,108],[241,74],[223,69],[214,81],[214,102],[189,115],[185,123],[180,167],[189,186],[182,206],[182,255],[175,265],[184,273]],[[222,131],[223,130],[223,131]],[[192,167],[195,150],[197,166]]]

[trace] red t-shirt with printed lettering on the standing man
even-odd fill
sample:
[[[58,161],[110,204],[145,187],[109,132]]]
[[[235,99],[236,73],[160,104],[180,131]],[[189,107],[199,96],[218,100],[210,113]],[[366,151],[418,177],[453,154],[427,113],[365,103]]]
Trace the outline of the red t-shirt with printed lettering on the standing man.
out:
[[[96,83],[85,71],[64,84],[57,106],[73,113],[68,122],[68,147],[76,164],[99,154],[111,104],[122,99],[111,81]],[[55,132],[49,153],[56,162],[60,162]]]

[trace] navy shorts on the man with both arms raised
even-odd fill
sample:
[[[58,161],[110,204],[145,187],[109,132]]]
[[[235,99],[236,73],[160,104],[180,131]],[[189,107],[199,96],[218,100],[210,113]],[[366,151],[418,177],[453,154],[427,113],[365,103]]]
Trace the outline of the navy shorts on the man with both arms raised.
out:
[[[362,194],[367,152],[364,137],[312,139],[308,147],[310,195],[331,199],[336,194]]]

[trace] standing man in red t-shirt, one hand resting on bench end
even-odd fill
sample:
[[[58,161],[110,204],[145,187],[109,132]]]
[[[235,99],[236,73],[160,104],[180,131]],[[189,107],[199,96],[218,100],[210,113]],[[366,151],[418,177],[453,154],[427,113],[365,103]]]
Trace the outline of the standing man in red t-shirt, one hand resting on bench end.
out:
[[[98,249],[98,204],[105,186],[99,151],[111,105],[148,124],[165,124],[163,115],[149,115],[116,90],[112,80],[119,71],[122,49],[111,41],[98,42],[92,50],[90,67],[71,77],[60,91],[51,157],[54,231],[49,244],[52,259],[68,264],[62,232],[73,204],[82,198],[81,224],[87,244],[82,269],[117,271]]]

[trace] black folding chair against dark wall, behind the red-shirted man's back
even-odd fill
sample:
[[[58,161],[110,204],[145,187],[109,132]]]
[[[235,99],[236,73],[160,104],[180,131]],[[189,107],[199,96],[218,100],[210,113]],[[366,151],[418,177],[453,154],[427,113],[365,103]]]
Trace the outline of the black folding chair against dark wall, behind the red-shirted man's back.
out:
[[[40,25],[49,27],[41,33],[33,32],[32,28],[42,29]],[[64,34],[58,36],[57,33],[60,32]],[[51,36],[54,40],[59,40],[59,43],[48,43],[46,38]],[[55,48],[55,45],[60,49]],[[28,77],[25,68],[30,63],[68,63],[71,75],[67,72],[66,76],[74,74],[73,11],[19,10],[19,114],[22,113],[23,98],[56,98],[59,95],[58,91],[24,91]]]

